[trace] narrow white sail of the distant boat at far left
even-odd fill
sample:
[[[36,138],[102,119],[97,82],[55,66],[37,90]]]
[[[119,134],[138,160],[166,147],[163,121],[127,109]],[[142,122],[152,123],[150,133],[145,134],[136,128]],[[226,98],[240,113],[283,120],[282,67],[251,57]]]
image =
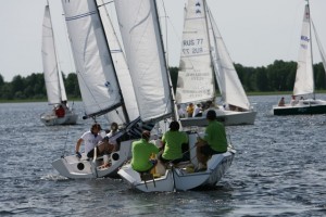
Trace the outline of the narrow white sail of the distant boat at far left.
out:
[[[49,104],[59,104],[61,101],[66,101],[62,74],[58,66],[49,5],[46,5],[42,24],[42,64]]]

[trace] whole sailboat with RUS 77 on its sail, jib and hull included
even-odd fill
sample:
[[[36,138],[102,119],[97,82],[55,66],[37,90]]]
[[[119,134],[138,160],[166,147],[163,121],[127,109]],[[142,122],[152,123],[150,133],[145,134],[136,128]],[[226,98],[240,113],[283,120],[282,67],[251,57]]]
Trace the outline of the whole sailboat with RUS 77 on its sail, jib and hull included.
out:
[[[215,80],[223,105],[215,104]],[[211,102],[224,125],[252,125],[256,112],[251,106],[233,61],[209,10],[206,1],[189,0],[185,23],[176,101],[180,105]],[[206,126],[200,117],[180,118],[184,127]]]

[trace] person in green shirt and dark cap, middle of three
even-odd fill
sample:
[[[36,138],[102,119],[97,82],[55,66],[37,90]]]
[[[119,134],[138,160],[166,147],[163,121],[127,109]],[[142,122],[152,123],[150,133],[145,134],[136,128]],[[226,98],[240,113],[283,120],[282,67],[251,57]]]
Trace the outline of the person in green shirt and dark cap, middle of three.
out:
[[[159,156],[159,159],[165,163],[178,164],[187,161],[184,157],[183,146],[188,146],[188,136],[186,132],[179,131],[180,125],[178,122],[172,122],[170,124],[170,130],[162,137],[163,153]]]

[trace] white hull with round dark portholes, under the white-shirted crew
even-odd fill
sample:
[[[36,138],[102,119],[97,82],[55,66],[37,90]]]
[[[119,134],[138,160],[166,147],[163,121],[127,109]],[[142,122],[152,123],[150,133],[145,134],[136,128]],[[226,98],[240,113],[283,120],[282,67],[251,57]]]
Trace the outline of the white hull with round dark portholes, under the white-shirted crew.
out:
[[[121,143],[117,152],[111,153],[109,157],[110,167],[102,168],[102,158],[88,159],[83,153],[79,159],[75,155],[65,156],[52,162],[52,166],[61,176],[71,179],[116,177],[116,171],[128,158],[130,158],[131,140]]]

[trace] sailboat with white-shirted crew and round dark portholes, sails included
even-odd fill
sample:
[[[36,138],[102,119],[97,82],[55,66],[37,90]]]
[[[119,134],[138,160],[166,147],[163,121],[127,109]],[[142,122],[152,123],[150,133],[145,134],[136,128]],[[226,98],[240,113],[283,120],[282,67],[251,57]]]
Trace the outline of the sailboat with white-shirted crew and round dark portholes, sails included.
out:
[[[60,175],[73,179],[116,177],[118,167],[130,157],[130,143],[139,138],[138,132],[152,126],[139,120],[125,59],[102,1],[62,0],[62,5],[85,108],[83,118],[96,120],[103,115],[111,123],[116,122],[121,129],[113,137],[122,141],[120,150],[109,155],[109,167],[102,167],[103,156],[96,154],[90,159],[85,153],[80,159],[75,155],[62,156],[52,166]]]

